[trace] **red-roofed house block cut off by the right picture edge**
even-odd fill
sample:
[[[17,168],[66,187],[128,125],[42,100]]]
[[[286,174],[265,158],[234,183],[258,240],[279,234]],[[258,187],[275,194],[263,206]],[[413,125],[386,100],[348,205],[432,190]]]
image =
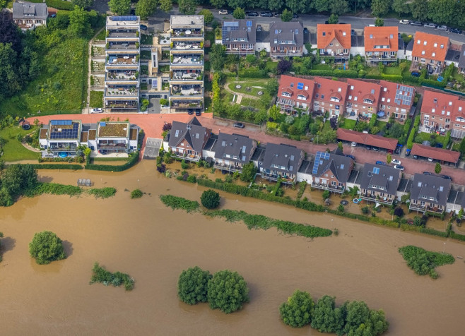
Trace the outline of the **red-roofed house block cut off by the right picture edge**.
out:
[[[425,90],[421,126],[427,132],[451,131],[452,138],[464,138],[465,100],[455,95]]]

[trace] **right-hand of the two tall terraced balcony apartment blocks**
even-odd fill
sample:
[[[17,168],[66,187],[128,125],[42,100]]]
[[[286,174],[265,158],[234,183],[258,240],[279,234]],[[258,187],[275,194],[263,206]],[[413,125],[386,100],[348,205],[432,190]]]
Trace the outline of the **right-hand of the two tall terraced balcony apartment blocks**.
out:
[[[170,18],[170,110],[204,108],[204,16]]]

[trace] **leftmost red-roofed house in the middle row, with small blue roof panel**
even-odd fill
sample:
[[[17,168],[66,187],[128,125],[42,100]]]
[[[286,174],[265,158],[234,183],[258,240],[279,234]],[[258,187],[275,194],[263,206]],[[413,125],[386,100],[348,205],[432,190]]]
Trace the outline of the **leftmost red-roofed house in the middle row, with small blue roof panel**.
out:
[[[314,80],[281,76],[276,106],[290,114],[308,114],[312,107],[314,86]]]

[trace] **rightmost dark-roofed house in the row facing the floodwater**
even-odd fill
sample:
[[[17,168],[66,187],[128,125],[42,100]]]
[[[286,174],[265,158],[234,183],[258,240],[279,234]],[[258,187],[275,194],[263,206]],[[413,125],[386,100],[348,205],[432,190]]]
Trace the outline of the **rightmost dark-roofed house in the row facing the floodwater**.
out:
[[[410,191],[410,210],[442,213],[446,210],[452,181],[439,176],[415,174]]]

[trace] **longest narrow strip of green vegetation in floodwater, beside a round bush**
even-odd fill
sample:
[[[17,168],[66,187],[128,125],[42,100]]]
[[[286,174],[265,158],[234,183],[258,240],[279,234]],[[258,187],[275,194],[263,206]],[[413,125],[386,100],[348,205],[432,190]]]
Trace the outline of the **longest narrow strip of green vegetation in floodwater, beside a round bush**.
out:
[[[161,195],[160,200],[172,209],[182,209],[187,212],[197,211],[200,208],[198,202],[187,200],[186,198]],[[224,217],[228,222],[244,222],[249,229],[269,229],[276,227],[278,231],[284,234],[296,234],[307,238],[319,236],[331,236],[333,233],[330,229],[322,229],[321,227],[313,227],[311,225],[289,222],[287,220],[274,220],[273,218],[264,215],[250,215],[245,211],[237,210],[205,210],[202,212],[209,217]]]

